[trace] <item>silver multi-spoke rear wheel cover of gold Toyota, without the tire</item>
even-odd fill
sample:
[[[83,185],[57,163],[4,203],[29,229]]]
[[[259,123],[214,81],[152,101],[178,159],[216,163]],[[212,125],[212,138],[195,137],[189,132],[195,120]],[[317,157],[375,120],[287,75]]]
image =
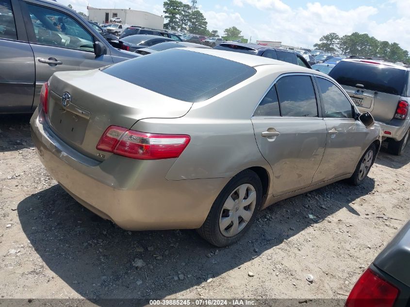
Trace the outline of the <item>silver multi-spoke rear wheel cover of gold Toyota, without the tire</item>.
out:
[[[241,184],[228,196],[220,216],[219,230],[226,237],[240,233],[250,221],[256,206],[255,188],[248,183]]]

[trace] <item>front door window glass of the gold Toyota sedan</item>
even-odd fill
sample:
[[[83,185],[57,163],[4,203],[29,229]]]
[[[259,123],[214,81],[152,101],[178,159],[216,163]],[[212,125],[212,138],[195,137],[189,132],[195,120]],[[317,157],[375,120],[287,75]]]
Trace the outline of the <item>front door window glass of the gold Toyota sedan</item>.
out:
[[[352,105],[342,91],[328,80],[316,80],[323,98],[325,117],[353,118]]]

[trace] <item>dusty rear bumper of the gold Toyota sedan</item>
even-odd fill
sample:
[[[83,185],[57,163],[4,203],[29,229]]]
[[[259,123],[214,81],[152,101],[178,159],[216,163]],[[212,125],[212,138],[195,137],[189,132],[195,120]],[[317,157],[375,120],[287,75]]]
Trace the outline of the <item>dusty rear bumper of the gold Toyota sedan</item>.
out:
[[[37,111],[31,131],[50,175],[84,207],[128,230],[198,228],[230,179],[166,180],[175,159],[95,161],[62,142]]]

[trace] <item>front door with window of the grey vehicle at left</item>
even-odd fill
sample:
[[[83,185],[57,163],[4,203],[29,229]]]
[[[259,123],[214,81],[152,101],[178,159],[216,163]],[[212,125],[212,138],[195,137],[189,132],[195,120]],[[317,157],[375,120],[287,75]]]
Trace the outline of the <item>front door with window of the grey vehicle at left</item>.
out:
[[[69,11],[24,3],[24,17],[34,52],[35,94],[33,108],[39,103],[44,82],[56,71],[86,70],[113,64],[111,55],[96,56],[97,38]],[[103,44],[105,45],[105,44]]]

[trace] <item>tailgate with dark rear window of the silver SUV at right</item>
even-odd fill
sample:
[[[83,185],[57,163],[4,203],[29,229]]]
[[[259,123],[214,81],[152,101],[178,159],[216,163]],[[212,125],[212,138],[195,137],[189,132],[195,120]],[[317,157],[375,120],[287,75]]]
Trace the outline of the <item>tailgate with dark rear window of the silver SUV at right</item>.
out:
[[[339,82],[362,112],[377,121],[393,119],[404,92],[408,72],[372,61],[340,61],[329,73]]]

